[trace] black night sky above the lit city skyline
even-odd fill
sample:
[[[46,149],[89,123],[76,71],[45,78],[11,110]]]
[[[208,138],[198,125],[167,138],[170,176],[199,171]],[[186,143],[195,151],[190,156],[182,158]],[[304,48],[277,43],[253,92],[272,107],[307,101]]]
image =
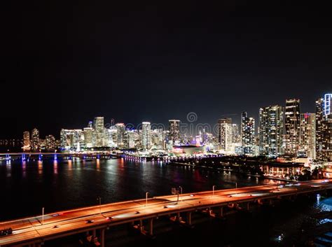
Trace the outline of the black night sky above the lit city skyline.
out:
[[[96,115],[239,122],[286,98],[314,111],[332,92],[331,13],[318,2],[85,2],[8,6],[0,138],[58,136]]]

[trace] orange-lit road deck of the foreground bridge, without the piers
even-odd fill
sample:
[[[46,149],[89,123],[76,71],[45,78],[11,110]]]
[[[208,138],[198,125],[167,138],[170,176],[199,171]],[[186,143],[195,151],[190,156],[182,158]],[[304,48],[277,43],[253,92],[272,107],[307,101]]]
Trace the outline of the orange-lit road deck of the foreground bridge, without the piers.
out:
[[[135,200],[90,206],[81,209],[51,213],[41,216],[11,220],[0,223],[0,229],[11,227],[11,236],[0,237],[0,246],[17,244],[34,239],[54,239],[60,234],[84,232],[92,227],[107,227],[129,223],[141,218],[155,218],[178,211],[194,211],[210,206],[222,206],[229,203],[251,202],[256,199],[267,199],[315,190],[331,189],[332,181],[310,181],[289,185],[261,185],[230,190],[215,190],[193,194],[167,195],[146,200]],[[88,223],[87,220],[90,220]]]

